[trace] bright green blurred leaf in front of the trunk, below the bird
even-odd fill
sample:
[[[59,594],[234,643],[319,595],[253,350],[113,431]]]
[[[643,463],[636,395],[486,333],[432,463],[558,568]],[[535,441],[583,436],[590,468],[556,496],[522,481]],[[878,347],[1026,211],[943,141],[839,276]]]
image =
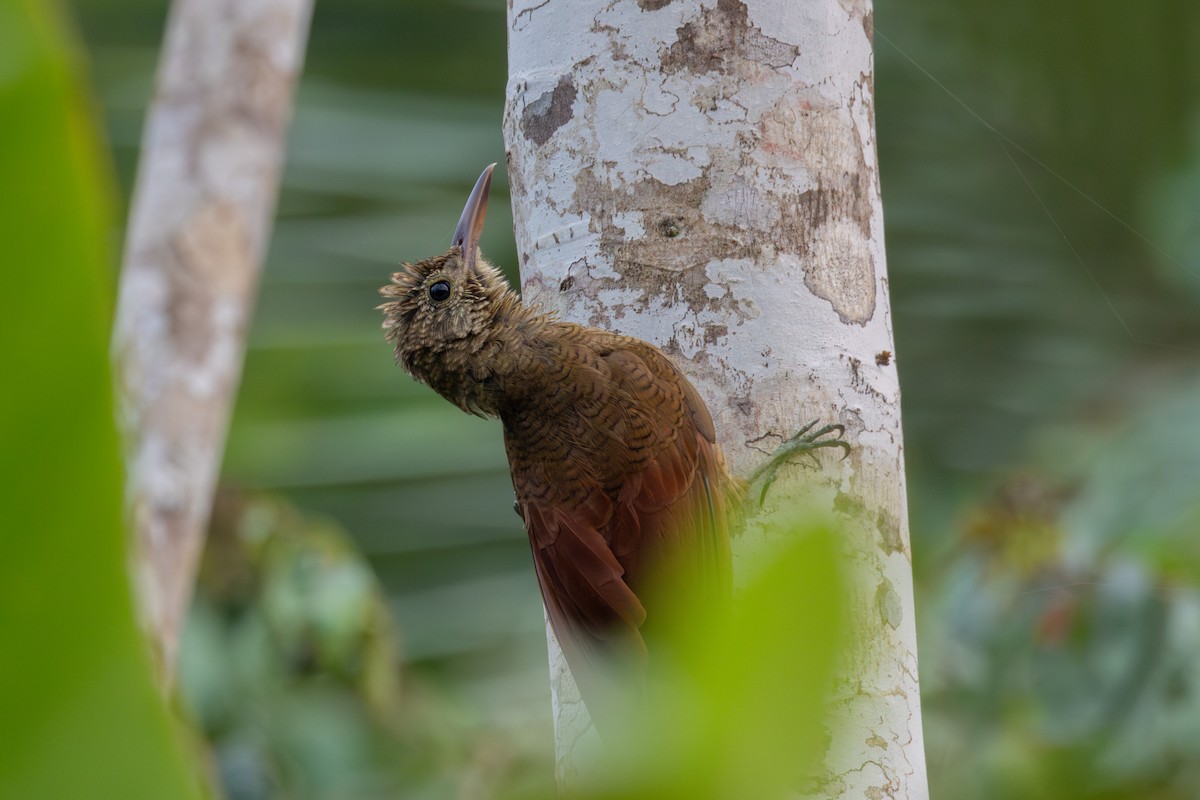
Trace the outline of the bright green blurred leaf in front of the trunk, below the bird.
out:
[[[689,601],[673,664],[607,741],[588,796],[782,798],[811,789],[827,744],[834,668],[851,649],[846,585],[830,528],[794,527],[755,564],[730,607]]]

